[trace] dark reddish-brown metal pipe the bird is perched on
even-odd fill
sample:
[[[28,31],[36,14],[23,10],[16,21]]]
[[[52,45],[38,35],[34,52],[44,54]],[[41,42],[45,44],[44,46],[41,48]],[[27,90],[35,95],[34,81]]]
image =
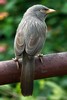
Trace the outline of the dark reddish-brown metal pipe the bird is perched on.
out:
[[[67,75],[67,52],[44,55],[42,60],[35,57],[34,79]],[[20,81],[21,60],[19,65],[18,69],[13,60],[0,62],[0,85]]]

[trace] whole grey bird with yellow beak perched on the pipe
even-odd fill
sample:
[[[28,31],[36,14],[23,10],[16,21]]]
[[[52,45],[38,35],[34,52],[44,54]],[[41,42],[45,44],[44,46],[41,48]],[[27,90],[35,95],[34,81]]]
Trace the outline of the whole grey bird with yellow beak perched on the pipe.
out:
[[[46,16],[54,11],[44,5],[34,5],[25,12],[17,28],[14,50],[16,60],[22,58],[23,62],[20,82],[24,96],[33,93],[34,56],[40,52],[46,39]]]

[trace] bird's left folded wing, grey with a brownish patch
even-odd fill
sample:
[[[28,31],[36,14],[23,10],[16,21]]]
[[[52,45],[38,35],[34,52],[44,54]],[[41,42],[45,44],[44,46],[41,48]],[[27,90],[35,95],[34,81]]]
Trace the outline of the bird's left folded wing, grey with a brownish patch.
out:
[[[15,55],[17,57],[21,56],[24,50],[24,33],[23,33],[24,26],[25,26],[25,23],[21,21],[21,23],[18,26],[17,33],[15,36],[14,50],[15,50]]]

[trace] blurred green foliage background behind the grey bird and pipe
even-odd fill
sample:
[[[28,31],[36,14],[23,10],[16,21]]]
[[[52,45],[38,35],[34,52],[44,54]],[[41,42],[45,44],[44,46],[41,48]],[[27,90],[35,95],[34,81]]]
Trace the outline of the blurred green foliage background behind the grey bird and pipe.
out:
[[[43,54],[67,50],[67,0],[0,0],[0,61],[14,57],[14,37],[27,8],[43,4],[56,10],[50,14]],[[23,97],[20,83],[0,86],[0,100],[67,100],[67,76],[35,81],[32,97]]]

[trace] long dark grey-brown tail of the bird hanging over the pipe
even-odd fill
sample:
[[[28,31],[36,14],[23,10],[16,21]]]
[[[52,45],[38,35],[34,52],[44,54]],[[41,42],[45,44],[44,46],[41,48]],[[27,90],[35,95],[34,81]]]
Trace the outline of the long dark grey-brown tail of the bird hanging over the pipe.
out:
[[[29,96],[33,93],[34,67],[34,57],[29,57],[28,54],[24,52],[20,78],[21,93],[24,96]]]

